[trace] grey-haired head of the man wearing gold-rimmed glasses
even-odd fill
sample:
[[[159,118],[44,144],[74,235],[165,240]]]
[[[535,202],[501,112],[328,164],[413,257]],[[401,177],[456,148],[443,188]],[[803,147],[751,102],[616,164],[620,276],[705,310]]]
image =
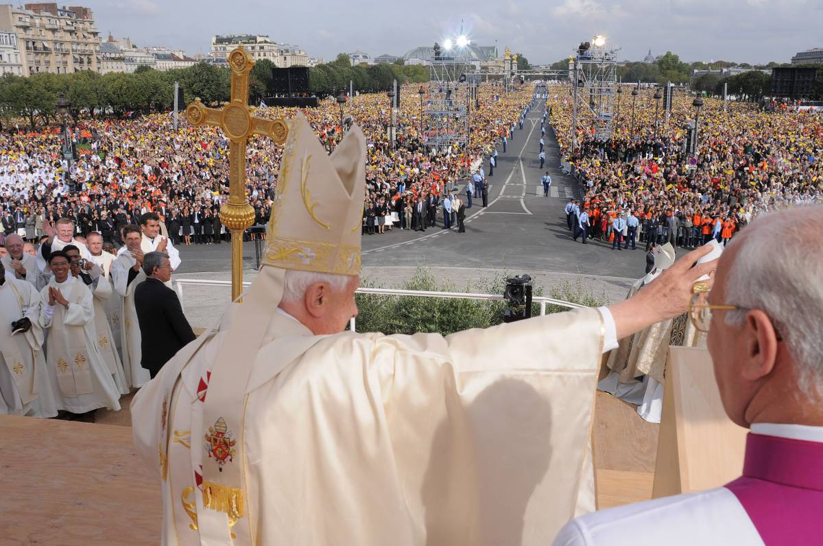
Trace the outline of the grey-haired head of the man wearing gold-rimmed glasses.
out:
[[[709,331],[733,421],[823,424],[823,209],[763,215],[720,258]]]

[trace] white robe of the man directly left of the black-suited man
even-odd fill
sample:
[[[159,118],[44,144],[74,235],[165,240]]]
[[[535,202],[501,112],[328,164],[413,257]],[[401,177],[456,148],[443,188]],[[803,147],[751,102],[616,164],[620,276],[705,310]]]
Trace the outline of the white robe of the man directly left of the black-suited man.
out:
[[[123,298],[123,316],[120,320],[120,338],[123,348],[123,371],[131,386],[140,388],[151,379],[146,368],[141,365],[142,349],[140,346],[140,323],[137,321],[137,308],[134,307],[134,289],[146,280],[142,268],[132,282],[128,282],[128,271],[137,261],[128,252],[120,254],[111,264],[111,276],[114,289]]]

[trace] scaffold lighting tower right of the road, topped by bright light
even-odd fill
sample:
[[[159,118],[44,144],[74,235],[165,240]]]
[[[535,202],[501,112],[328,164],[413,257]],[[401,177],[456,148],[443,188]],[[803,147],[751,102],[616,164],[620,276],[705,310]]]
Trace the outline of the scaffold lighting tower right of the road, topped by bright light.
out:
[[[570,59],[574,100],[572,150],[577,144],[579,129],[593,134],[597,140],[611,139],[619,50],[616,46],[607,47],[606,38],[598,35],[591,42],[581,43]]]

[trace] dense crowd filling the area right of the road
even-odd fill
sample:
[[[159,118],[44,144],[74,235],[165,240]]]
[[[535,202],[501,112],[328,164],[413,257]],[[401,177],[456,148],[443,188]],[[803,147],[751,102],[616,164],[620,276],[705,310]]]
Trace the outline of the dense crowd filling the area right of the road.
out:
[[[705,98],[692,167],[686,127],[695,120],[695,95],[673,90],[667,119],[654,88],[640,89],[634,100],[632,89],[616,95],[612,138],[598,140],[584,118],[571,150],[571,88],[550,87],[546,108],[561,153],[583,184],[576,206],[587,213],[589,235],[613,243],[622,213],[638,220],[636,234],[647,248],[667,241],[692,247],[732,238],[760,211],[820,201],[820,113],[768,102],[730,101],[724,109],[722,100]]]

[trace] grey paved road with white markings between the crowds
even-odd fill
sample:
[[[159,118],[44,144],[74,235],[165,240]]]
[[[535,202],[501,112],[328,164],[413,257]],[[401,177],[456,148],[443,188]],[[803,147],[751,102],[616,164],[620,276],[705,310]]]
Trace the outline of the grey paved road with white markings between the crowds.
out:
[[[466,233],[435,228],[425,232],[393,229],[383,235],[363,236],[364,266],[439,266],[507,269],[513,272],[556,271],[583,275],[639,278],[645,252],[611,251],[611,246],[589,239],[572,241],[563,207],[579,197],[574,178],[560,171],[560,150],[551,127],[546,127],[546,168],[553,184],[543,197],[540,178],[542,104],[528,113],[523,130],[514,131],[507,153],[502,147],[498,168],[489,177],[489,206],[475,200],[467,209]],[[486,170],[488,164],[485,165]],[[461,195],[465,199],[465,192]],[[442,218],[442,215],[438,215]],[[228,271],[229,245],[199,245],[180,249],[179,272]],[[254,266],[253,243],[245,243],[246,266]]]

